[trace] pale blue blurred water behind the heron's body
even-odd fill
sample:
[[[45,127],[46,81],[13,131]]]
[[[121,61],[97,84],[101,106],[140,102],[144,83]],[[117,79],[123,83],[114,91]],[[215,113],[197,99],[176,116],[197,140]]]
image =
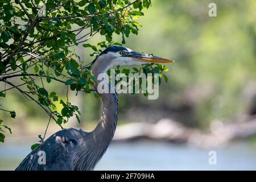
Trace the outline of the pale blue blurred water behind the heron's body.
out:
[[[15,169],[30,151],[28,144],[0,144],[0,170]],[[216,164],[209,164],[209,151],[216,152],[211,160]],[[256,170],[256,147],[247,142],[210,149],[144,140],[112,143],[96,170]]]

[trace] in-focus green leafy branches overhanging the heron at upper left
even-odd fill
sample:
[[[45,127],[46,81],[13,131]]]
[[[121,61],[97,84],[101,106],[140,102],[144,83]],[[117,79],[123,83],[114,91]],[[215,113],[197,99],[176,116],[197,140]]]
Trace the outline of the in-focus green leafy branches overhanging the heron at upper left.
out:
[[[60,99],[54,88],[48,89],[52,82],[55,86],[59,82],[75,92],[94,92],[90,67],[70,47],[83,44],[93,50],[90,56],[94,56],[102,48],[121,44],[113,42],[113,34],[121,35],[125,43],[125,37],[138,34],[141,24],[137,19],[150,5],[150,0],[0,0],[0,82],[5,85],[1,100],[9,90],[16,89],[46,111],[49,121],[52,118],[61,126],[75,115],[80,122],[79,107],[69,102],[68,94]],[[96,34],[105,40],[85,43]],[[15,118],[12,109],[5,105],[0,109]],[[3,129],[10,130],[3,122],[0,119],[0,142],[5,138]],[[43,142],[44,137],[39,138]]]

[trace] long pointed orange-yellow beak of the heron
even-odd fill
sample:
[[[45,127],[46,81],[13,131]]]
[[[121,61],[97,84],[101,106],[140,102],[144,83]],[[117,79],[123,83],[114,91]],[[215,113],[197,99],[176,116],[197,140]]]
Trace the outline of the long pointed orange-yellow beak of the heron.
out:
[[[145,53],[131,52],[131,57],[134,61],[141,61],[146,63],[174,63],[174,60],[164,59],[158,56],[147,55]]]

